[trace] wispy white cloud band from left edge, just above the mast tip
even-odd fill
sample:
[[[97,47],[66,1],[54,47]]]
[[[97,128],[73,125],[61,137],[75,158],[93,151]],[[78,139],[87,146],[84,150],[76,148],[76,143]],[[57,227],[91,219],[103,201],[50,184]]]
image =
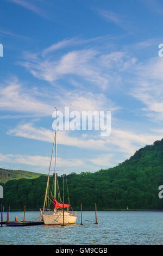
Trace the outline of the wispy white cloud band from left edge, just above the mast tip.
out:
[[[17,77],[12,77],[3,85],[0,84],[0,109],[12,113],[1,115],[1,119],[52,116],[54,105],[58,106],[63,114],[65,107],[80,113],[106,109],[115,112],[120,109],[103,93],[63,90],[61,93],[53,91],[49,94],[47,89],[41,92],[37,87],[28,87],[27,84],[18,81]]]

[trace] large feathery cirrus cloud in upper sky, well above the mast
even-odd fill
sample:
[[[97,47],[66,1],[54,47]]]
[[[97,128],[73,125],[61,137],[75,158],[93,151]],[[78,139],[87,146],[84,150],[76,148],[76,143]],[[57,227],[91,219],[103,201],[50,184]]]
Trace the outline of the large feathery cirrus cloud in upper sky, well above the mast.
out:
[[[73,47],[78,42],[74,38],[65,39],[39,53],[25,52],[24,60],[17,64],[24,66],[34,77],[51,84],[56,81],[74,81],[73,86],[80,83],[86,89],[98,87],[105,90],[111,84],[117,84],[118,70],[124,70],[127,65],[136,62],[136,58],[131,58],[128,54],[110,49],[106,52],[105,47],[103,49],[96,44],[90,47],[86,41],[80,41],[85,45],[74,50]],[[60,48],[67,49],[61,53]]]

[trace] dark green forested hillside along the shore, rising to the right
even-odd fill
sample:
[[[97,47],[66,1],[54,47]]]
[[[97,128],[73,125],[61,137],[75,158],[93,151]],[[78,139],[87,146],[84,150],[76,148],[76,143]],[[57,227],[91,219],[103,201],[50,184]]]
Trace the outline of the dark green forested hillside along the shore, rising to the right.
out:
[[[65,202],[68,202],[66,185],[74,210],[93,210],[97,203],[98,210],[108,209],[152,209],[162,210],[163,199],[158,197],[158,187],[163,185],[163,139],[146,145],[136,151],[129,160],[118,166],[101,169],[98,172],[71,173],[66,175]],[[2,174],[2,169],[0,173]],[[6,170],[7,172],[7,170]],[[14,171],[13,171],[14,172]],[[4,173],[4,172],[3,172]],[[47,176],[3,180],[4,208],[12,210],[39,210],[45,197]],[[11,177],[10,177],[11,178]],[[51,177],[50,182],[52,182]],[[58,176],[62,188],[62,176]],[[62,196],[62,189],[60,190]]]

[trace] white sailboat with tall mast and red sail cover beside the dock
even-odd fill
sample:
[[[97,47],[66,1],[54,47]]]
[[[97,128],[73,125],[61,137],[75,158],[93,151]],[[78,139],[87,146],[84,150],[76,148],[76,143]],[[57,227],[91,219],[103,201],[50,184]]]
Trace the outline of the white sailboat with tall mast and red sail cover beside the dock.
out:
[[[53,195],[52,194],[53,189],[51,190],[49,186],[49,178],[50,178],[50,172],[51,172],[54,144],[55,144],[55,164],[54,164],[55,169],[54,169],[54,195]],[[45,225],[74,224],[76,223],[76,220],[77,220],[77,216],[76,216],[77,212],[69,211],[70,204],[64,204],[64,196],[63,196],[62,203],[59,203],[56,199],[56,190],[58,185],[56,165],[57,165],[57,114],[56,114],[56,128],[55,128],[55,135],[54,135],[54,141],[53,141],[51,162],[49,165],[45,200],[43,204],[43,210],[40,209],[40,211],[41,211],[41,215]],[[48,208],[50,204],[53,204],[53,209]],[[67,208],[66,211],[65,211],[65,208]]]

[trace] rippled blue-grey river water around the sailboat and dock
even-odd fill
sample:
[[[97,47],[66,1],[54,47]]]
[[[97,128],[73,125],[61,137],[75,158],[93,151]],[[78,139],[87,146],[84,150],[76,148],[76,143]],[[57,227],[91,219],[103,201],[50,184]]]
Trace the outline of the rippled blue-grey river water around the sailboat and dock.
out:
[[[10,221],[23,220],[23,212],[10,212]],[[163,245],[163,212],[83,211],[77,224],[66,227],[35,225],[0,227],[0,245]],[[39,221],[39,212],[26,212],[26,221]],[[4,213],[4,220],[6,213]]]

